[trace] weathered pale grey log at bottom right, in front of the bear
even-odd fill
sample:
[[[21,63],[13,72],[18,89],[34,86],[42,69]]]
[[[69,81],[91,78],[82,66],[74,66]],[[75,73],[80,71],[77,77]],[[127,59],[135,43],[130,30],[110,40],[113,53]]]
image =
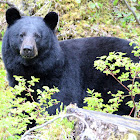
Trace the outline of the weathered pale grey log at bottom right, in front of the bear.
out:
[[[69,117],[75,120],[76,140],[140,140],[140,119],[80,108],[68,108],[67,113],[77,115],[89,125],[87,130],[81,119]]]

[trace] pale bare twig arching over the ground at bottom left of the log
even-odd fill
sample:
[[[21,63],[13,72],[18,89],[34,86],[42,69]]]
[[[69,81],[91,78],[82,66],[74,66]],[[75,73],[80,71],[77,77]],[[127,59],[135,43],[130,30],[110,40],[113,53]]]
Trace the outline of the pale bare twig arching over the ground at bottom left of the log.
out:
[[[66,114],[66,115],[64,115],[64,116],[58,116],[58,117],[56,117],[56,118],[54,118],[54,119],[52,119],[52,120],[50,120],[50,121],[48,121],[48,122],[46,122],[46,123],[40,125],[40,126],[35,126],[35,127],[31,128],[30,130],[28,130],[28,131],[22,136],[21,140],[25,140],[25,136],[26,136],[26,135],[29,135],[31,131],[34,131],[34,130],[39,129],[39,128],[42,128],[42,127],[44,127],[44,126],[47,126],[48,124],[54,122],[55,120],[57,120],[57,119],[59,119],[59,118],[62,118],[62,119],[63,119],[63,118],[69,117],[69,116],[74,116],[74,117],[80,119],[80,120],[86,125],[86,130],[91,131],[90,128],[89,128],[89,125],[87,124],[87,122],[86,122],[83,118],[81,118],[81,117],[79,117],[79,116],[77,116],[77,115],[75,115],[75,114]],[[86,133],[84,134],[84,136],[87,136]],[[88,136],[87,136],[87,137],[88,137]],[[90,136],[90,137],[91,137],[91,136]],[[93,140],[93,139],[91,139],[91,140]]]

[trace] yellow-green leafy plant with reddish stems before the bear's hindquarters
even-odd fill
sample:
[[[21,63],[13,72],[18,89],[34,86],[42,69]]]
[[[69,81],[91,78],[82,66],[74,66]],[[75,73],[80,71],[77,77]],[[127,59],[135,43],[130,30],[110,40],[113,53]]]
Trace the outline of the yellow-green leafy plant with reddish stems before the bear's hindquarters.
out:
[[[132,43],[130,43],[132,46]],[[135,57],[140,57],[140,47],[135,46],[132,51]],[[113,113],[118,110],[120,103],[125,97],[130,96],[131,101],[128,101],[126,105],[132,108],[130,115],[135,109],[135,116],[139,117],[140,102],[135,102],[135,96],[140,94],[140,83],[138,79],[140,78],[140,63],[134,63],[130,58],[125,56],[122,52],[110,52],[109,56],[101,56],[98,60],[94,62],[94,67],[97,70],[105,73],[106,75],[111,75],[117,82],[120,83],[127,91],[128,95],[124,95],[123,91],[118,90],[117,93],[108,92],[113,97],[108,101],[108,104],[103,104],[103,99],[101,94],[95,92],[94,90],[89,90],[88,93],[91,97],[85,98],[85,102],[88,104],[90,110],[103,111],[108,113]],[[122,71],[120,68],[124,68]],[[119,74],[120,76],[118,76]],[[124,82],[129,81],[128,85]]]

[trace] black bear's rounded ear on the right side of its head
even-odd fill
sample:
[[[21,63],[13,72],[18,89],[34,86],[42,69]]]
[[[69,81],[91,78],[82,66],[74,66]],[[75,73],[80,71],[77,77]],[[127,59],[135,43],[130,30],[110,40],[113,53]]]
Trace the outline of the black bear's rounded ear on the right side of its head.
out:
[[[52,30],[54,30],[58,22],[58,14],[55,12],[49,12],[45,16],[44,21]]]

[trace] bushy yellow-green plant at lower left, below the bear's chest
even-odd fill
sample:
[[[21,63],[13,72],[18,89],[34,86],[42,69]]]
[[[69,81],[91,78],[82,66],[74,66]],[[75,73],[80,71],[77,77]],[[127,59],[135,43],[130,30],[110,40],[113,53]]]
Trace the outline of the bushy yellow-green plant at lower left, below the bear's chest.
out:
[[[39,79],[31,77],[30,81],[26,81],[21,76],[15,76],[15,79],[18,81],[18,85],[14,88],[7,88],[0,94],[0,130],[2,131],[0,137],[7,139],[18,138],[19,136],[15,134],[25,131],[27,123],[31,123],[30,120],[36,120],[37,124],[42,124],[50,119],[46,109],[58,103],[56,99],[51,99],[54,93],[59,92],[57,88],[50,89],[44,86],[43,91],[38,89],[38,102],[35,102],[31,94],[34,92],[32,86],[39,82]],[[26,101],[26,98],[18,97],[23,91],[26,91],[26,95],[32,98],[32,102]]]

